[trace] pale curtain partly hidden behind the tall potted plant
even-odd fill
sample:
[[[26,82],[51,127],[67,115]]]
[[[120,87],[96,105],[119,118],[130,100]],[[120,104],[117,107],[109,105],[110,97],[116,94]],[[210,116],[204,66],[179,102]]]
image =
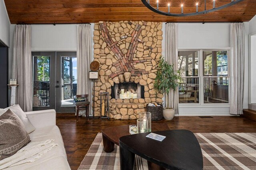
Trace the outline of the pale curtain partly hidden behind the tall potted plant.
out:
[[[166,23],[166,61],[173,64],[174,69],[178,70],[178,23]],[[167,106],[167,95],[165,94],[165,106]],[[171,90],[169,94],[169,106],[174,108],[175,114],[178,115],[178,88]]]

